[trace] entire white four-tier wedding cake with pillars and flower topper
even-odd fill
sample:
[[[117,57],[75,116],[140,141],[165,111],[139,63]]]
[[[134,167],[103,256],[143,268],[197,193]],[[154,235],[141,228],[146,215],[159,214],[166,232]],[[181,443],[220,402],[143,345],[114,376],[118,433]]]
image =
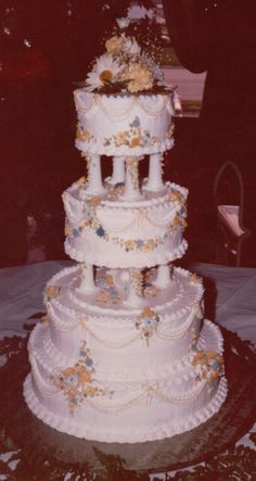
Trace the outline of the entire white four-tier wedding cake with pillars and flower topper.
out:
[[[63,201],[65,250],[78,264],[46,287],[25,398],[43,422],[78,438],[172,436],[210,418],[227,395],[222,336],[203,319],[202,280],[170,264],[187,249],[188,195],[163,180],[172,92],[123,29],[75,103],[87,178]],[[106,179],[102,155],[113,164]],[[149,162],[141,182],[140,162]]]

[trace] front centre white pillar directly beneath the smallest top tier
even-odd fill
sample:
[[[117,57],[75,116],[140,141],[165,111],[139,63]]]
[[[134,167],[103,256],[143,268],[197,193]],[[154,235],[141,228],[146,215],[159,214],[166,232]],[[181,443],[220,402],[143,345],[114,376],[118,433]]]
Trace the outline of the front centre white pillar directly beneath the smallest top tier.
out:
[[[136,201],[141,199],[139,188],[139,160],[141,157],[126,157],[126,179],[123,199],[127,201]]]

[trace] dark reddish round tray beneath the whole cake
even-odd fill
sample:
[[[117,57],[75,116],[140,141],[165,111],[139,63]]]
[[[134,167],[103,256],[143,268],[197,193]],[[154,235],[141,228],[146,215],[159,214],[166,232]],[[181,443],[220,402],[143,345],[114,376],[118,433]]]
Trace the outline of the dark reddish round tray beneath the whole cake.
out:
[[[39,313],[34,317],[41,316]],[[25,325],[24,328],[29,331],[31,326]],[[4,338],[0,341],[0,355],[5,357],[5,364],[0,368],[0,473],[10,474],[5,479],[16,481],[150,480],[153,479],[150,473],[167,473],[210,460],[226,450],[232,451],[233,444],[252,428],[256,417],[256,352],[248,341],[241,341],[236,334],[221,330],[229,394],[219,413],[192,431],[136,444],[77,439],[37,419],[23,398],[23,381],[29,371],[28,336]],[[254,451],[252,453],[255,455]],[[244,453],[240,455],[242,463]],[[9,464],[3,463],[7,458]],[[166,479],[172,478],[166,474]]]

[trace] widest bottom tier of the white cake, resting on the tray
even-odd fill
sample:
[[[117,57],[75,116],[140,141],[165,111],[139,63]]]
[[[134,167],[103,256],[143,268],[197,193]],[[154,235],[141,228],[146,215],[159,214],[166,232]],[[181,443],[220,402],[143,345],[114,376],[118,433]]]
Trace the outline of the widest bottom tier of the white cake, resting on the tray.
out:
[[[38,336],[43,337],[47,329],[39,326]],[[220,338],[219,329],[205,320],[201,353],[216,351]],[[171,369],[169,376],[165,370],[164,377],[156,372],[151,380],[110,377],[91,382],[88,369],[79,364],[61,369],[52,359],[49,363],[43,342],[39,353],[30,352],[30,363],[24,383],[30,410],[61,432],[93,441],[137,443],[170,438],[206,421],[227,396],[226,378],[200,376],[196,363],[184,362],[180,382],[174,380]]]

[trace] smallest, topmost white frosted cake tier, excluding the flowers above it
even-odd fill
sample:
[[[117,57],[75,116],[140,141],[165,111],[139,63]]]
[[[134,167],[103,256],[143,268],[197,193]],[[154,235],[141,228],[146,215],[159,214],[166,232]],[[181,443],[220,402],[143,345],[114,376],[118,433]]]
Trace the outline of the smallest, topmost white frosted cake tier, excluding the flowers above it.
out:
[[[174,144],[174,107],[167,94],[102,96],[75,90],[76,147],[88,154],[143,155]]]

